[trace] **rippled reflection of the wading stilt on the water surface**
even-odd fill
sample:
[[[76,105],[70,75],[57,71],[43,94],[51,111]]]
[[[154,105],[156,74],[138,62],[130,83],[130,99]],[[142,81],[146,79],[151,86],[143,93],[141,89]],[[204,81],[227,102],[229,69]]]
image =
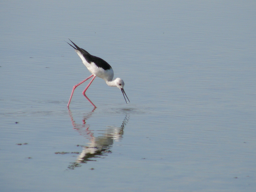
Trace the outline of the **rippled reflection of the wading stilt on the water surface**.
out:
[[[73,129],[78,131],[81,135],[89,139],[88,146],[83,147],[83,151],[77,157],[76,162],[70,163],[68,169],[75,169],[76,167],[82,166],[82,163],[88,161],[96,161],[96,158],[102,158],[111,153],[111,148],[114,141],[120,141],[124,134],[124,127],[128,123],[129,116],[125,116],[120,127],[109,126],[104,130],[104,133],[98,137],[94,136],[94,132],[90,130],[90,125],[86,124],[86,120],[92,116],[95,108],[84,116],[83,124],[77,124],[72,116],[71,111],[68,109],[69,116],[72,121]],[[102,131],[103,132],[103,131]]]

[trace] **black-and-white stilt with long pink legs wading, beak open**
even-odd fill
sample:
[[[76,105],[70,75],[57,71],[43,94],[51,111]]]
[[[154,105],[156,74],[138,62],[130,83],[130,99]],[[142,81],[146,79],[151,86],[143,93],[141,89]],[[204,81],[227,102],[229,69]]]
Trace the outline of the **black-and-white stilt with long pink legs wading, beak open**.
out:
[[[69,41],[71,41],[71,40],[69,39]],[[66,42],[66,43],[68,43],[68,42]],[[86,79],[84,79],[83,81],[81,81],[80,83],[76,84],[73,87],[72,92],[71,92],[71,96],[70,96],[69,101],[68,101],[68,107],[69,107],[71,98],[73,96],[73,93],[74,93],[76,87],[81,85],[82,83],[84,83],[85,81],[87,81],[88,79],[90,79],[92,77],[91,82],[84,89],[83,95],[92,104],[92,106],[94,108],[96,108],[96,106],[92,103],[92,101],[85,95],[86,90],[92,84],[92,81],[95,79],[96,76],[98,76],[98,77],[102,78],[103,80],[105,80],[106,83],[108,84],[108,86],[119,88],[121,90],[121,92],[123,93],[123,96],[125,95],[127,100],[130,102],[130,100],[128,99],[126,93],[124,92],[124,81],[122,79],[120,79],[120,78],[116,78],[116,79],[113,80],[113,78],[114,78],[114,71],[113,71],[112,67],[107,63],[107,61],[105,61],[105,60],[103,60],[103,59],[101,59],[99,57],[91,55],[90,53],[88,53],[84,49],[78,47],[74,42],[71,41],[71,43],[74,46],[69,44],[69,43],[68,44],[75,49],[75,52],[81,58],[81,60],[84,63],[85,67],[92,73],[92,75],[87,77]],[[124,96],[124,100],[125,100],[125,102],[127,104],[125,96]]]

